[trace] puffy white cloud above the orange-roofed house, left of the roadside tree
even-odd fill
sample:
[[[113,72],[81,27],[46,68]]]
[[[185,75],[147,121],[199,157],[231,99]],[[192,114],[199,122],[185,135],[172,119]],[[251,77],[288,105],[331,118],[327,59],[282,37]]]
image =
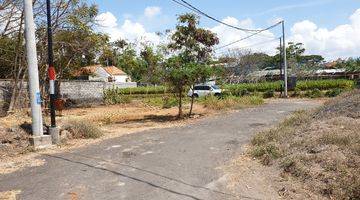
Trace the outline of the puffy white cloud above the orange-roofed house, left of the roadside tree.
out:
[[[123,24],[119,25],[117,18],[111,12],[101,13],[96,19],[99,23],[99,31],[108,34],[112,41],[126,39],[135,43],[150,42],[153,44],[159,44],[161,41],[156,33],[146,31],[141,23],[125,19]]]

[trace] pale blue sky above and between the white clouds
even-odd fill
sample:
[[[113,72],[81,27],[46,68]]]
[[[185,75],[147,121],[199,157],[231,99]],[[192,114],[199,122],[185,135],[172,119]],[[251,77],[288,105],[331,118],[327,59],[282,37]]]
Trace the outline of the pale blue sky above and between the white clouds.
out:
[[[128,20],[128,22],[140,24],[149,33],[173,29],[176,23],[176,15],[188,12],[186,8],[175,4],[171,0],[88,0],[88,2],[98,4],[100,13],[111,13],[116,18],[118,27],[123,26],[126,20]],[[304,23],[298,27],[309,27],[315,34],[322,33],[321,30],[318,32],[318,29],[326,29],[329,33],[324,35],[324,37],[332,37],[332,33],[338,32],[336,31],[337,28],[342,25],[354,25],[355,22],[354,20],[351,21],[350,17],[360,9],[359,0],[188,0],[188,2],[221,20],[229,17],[237,19],[238,24],[235,21],[234,23],[239,26],[245,23],[244,20],[250,20],[251,23],[245,23],[244,26],[263,28],[276,20],[284,19],[286,21],[286,32],[290,39],[297,37],[297,33],[291,30],[300,22]],[[145,9],[155,7],[159,10],[152,10],[156,11],[154,16],[149,17],[149,15],[146,15]],[[305,22],[309,23],[306,24]],[[316,30],[314,30],[313,25],[316,25]],[[201,26],[212,29],[219,25],[216,22],[202,18]],[[354,27],[356,26],[354,25]],[[279,35],[278,30],[272,31],[274,36]],[[299,32],[302,31],[299,30]],[[357,31],[355,32],[357,33]],[[302,36],[306,37],[306,35]],[[122,37],[126,37],[126,34],[123,34]],[[300,36],[297,38],[299,39]],[[220,39],[222,38],[220,37]],[[258,40],[260,41],[260,39]],[[306,41],[301,42],[305,43]],[[322,45],[326,46],[326,44]],[[310,48],[312,45],[314,44],[311,44]],[[317,53],[315,50],[316,48],[314,51],[310,49],[309,53]],[[346,57],[346,55],[337,55],[337,53],[334,53],[336,51],[334,49],[331,51],[328,57]],[[354,52],[352,50],[349,52],[349,56],[355,56],[356,53],[357,51]]]

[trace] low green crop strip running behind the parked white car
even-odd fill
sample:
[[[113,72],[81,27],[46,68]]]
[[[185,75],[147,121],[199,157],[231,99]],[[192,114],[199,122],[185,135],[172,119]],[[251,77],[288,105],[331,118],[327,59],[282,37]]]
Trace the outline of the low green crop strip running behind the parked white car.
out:
[[[224,85],[224,96],[248,96],[256,93],[262,93],[264,98],[275,96],[275,92],[281,91],[281,81],[262,82],[262,83],[241,83],[233,85]],[[352,80],[313,80],[298,81],[296,88],[290,94],[292,97],[335,97],[343,91],[355,88],[355,82]],[[183,94],[186,92],[186,88]],[[171,96],[172,90],[166,86],[136,87],[136,88],[111,88],[104,91],[104,100],[108,104],[129,103],[132,98],[164,97]],[[261,95],[261,94],[259,94]]]

